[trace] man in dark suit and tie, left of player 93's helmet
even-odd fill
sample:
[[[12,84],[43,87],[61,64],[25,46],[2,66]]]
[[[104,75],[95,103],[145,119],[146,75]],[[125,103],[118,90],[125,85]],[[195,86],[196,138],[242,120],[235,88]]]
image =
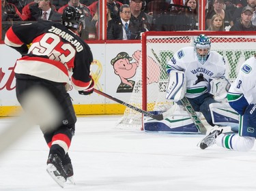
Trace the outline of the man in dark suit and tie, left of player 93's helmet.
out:
[[[40,8],[40,17],[37,20],[52,20],[56,22],[61,21],[61,14],[57,13],[51,8],[50,0],[40,0],[38,7]]]

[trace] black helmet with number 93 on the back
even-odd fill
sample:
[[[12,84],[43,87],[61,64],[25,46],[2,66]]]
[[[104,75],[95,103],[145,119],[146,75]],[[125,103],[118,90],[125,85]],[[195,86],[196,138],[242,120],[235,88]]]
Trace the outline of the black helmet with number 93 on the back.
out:
[[[78,8],[66,7],[61,19],[61,23],[68,29],[79,29],[80,24],[83,24],[83,29],[85,29],[85,16],[83,16],[82,10]]]

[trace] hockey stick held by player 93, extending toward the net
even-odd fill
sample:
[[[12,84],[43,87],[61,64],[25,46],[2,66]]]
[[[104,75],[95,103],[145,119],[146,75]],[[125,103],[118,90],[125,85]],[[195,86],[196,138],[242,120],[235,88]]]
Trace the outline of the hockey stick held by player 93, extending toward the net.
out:
[[[109,94],[106,94],[100,90],[97,90],[97,89],[94,89],[94,92],[108,98],[108,99],[111,99],[117,103],[120,103],[122,105],[125,105],[126,107],[129,107],[130,109],[133,109],[134,111],[138,111],[139,113],[143,114],[144,116],[149,116],[150,118],[153,118],[155,120],[164,120],[165,118],[167,118],[167,116],[170,116],[171,114],[173,114],[173,112],[175,111],[176,109],[176,105],[173,105],[173,107],[171,107],[169,110],[165,111],[164,113],[162,114],[158,114],[158,115],[155,115],[155,114],[151,114],[150,112],[148,111],[145,111],[143,109],[139,109],[138,107],[134,107],[133,105],[130,105],[129,103],[126,103],[124,101],[121,101],[115,97],[112,97],[111,95]]]

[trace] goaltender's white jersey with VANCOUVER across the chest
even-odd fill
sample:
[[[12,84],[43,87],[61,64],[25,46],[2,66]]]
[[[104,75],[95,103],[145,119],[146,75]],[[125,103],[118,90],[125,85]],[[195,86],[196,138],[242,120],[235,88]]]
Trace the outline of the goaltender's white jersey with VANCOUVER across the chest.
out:
[[[178,50],[167,64],[167,72],[184,71],[186,77],[186,97],[195,98],[208,92],[210,77],[225,75],[225,59],[218,52],[211,51],[208,59],[199,63],[193,47]]]

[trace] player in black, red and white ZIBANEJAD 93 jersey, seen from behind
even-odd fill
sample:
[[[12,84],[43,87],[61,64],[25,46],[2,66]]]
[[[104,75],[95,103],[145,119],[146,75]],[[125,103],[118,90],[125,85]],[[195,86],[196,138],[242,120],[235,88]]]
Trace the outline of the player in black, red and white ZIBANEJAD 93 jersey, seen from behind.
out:
[[[20,105],[23,106],[23,95],[27,91],[40,86],[53,95],[63,111],[63,118],[53,131],[40,126],[50,147],[47,171],[63,187],[67,179],[72,180],[68,149],[76,123],[67,90],[71,83],[79,94],[91,94],[94,80],[90,75],[93,56],[80,37],[85,27],[83,14],[74,7],[66,7],[61,22],[42,20],[14,25],[6,32],[5,44],[22,54],[14,69],[16,97]]]

